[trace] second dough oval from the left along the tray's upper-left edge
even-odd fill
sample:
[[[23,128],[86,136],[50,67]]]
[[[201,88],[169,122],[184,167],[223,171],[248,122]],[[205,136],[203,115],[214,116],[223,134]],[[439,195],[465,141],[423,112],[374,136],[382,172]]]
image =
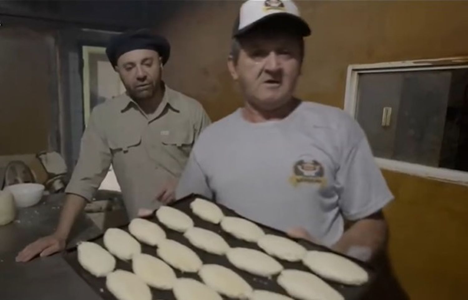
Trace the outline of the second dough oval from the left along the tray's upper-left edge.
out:
[[[122,260],[130,260],[141,252],[141,245],[122,229],[110,228],[104,234],[104,245],[110,253]]]

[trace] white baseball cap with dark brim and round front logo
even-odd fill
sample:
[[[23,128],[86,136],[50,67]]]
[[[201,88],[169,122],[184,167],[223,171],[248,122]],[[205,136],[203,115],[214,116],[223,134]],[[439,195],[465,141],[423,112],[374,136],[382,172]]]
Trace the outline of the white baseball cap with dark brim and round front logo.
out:
[[[309,25],[300,17],[299,9],[292,0],[248,0],[241,6],[233,36],[239,36],[258,23],[273,18],[293,21],[302,36],[309,36],[311,33]]]

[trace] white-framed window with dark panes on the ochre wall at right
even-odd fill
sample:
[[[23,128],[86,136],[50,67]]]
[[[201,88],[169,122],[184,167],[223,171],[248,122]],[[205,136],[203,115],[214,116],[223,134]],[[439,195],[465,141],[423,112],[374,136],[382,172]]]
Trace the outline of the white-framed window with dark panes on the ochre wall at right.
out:
[[[380,167],[468,183],[468,57],[351,65],[345,110]]]

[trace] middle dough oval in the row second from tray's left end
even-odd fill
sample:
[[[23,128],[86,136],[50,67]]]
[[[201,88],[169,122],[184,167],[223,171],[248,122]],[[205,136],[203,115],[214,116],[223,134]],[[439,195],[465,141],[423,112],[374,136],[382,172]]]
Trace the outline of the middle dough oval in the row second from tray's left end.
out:
[[[132,260],[132,270],[148,286],[170,290],[176,282],[176,273],[161,259],[148,254],[137,254]]]

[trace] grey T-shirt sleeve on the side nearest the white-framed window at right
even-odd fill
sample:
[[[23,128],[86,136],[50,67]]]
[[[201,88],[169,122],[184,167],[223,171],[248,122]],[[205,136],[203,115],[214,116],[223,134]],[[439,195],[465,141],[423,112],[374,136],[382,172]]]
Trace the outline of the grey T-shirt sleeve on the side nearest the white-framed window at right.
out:
[[[364,132],[357,124],[354,129],[351,134],[354,143],[344,150],[336,174],[338,203],[342,214],[350,221],[379,211],[393,199]]]

